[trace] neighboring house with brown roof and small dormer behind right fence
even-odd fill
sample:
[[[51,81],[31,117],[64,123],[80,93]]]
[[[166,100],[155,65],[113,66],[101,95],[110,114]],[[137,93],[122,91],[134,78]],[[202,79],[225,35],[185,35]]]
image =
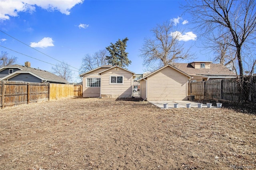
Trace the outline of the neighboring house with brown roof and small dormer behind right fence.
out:
[[[234,78],[236,73],[222,64],[211,61],[194,61],[191,63],[174,63],[174,67],[192,76],[190,82],[207,81],[214,79]]]

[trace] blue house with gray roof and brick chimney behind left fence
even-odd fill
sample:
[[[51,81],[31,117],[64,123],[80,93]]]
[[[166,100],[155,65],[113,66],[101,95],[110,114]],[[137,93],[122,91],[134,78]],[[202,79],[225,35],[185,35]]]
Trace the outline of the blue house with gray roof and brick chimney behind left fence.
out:
[[[45,70],[30,67],[30,62],[25,65],[8,65],[0,68],[0,81],[26,81],[26,82],[49,82],[66,84],[68,81]]]

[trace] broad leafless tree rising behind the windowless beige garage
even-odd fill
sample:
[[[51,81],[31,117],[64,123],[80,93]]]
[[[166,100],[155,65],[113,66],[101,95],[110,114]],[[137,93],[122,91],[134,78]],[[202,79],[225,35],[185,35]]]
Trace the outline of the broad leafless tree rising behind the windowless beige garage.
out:
[[[183,47],[184,43],[180,43],[180,34],[175,34],[170,22],[157,24],[151,32],[153,37],[145,38],[140,49],[140,56],[144,59],[144,65],[147,67],[151,67],[152,63],[158,63],[157,67],[159,68],[179,59],[192,57],[189,49],[186,50]]]

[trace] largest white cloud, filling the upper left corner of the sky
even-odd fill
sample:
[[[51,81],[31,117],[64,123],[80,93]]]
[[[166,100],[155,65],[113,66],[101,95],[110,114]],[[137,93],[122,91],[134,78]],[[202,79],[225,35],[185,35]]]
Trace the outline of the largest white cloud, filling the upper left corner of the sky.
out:
[[[36,7],[49,11],[60,11],[69,15],[70,9],[84,0],[1,0],[0,20],[9,20],[16,17],[19,12],[34,12]]]

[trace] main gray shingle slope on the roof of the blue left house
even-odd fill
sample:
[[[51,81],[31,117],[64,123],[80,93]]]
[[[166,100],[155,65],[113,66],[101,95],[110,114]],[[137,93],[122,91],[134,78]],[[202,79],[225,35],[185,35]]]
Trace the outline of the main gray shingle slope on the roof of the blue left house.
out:
[[[65,79],[62,79],[61,77],[59,77],[53,73],[50,73],[49,71],[36,69],[36,68],[32,68],[32,67],[26,67],[24,65],[18,65],[18,64],[9,65],[7,67],[9,67],[9,68],[10,67],[18,67],[18,68],[22,69],[21,71],[30,71],[31,73],[34,73],[35,75],[38,75],[39,77],[42,77],[44,80],[47,80],[47,81],[68,83],[68,81],[66,81]]]

